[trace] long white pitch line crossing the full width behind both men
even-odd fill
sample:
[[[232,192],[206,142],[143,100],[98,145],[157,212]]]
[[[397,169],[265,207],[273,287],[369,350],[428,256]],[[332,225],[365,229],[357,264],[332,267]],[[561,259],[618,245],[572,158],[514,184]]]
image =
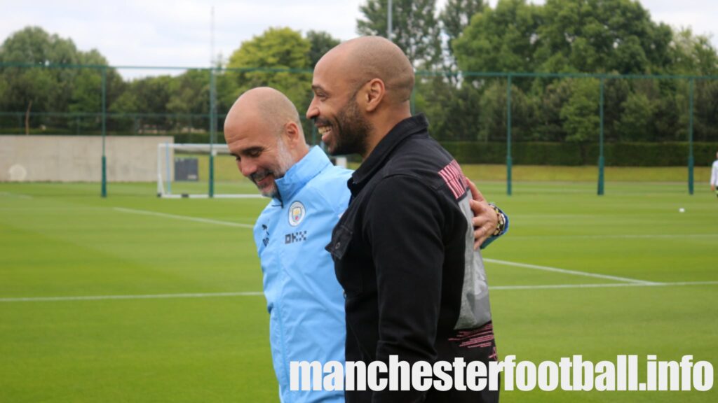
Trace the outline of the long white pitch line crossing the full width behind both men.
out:
[[[676,287],[685,285],[718,285],[718,281],[684,281],[676,283],[611,283],[611,284],[546,284],[546,285],[495,285],[489,290],[550,290],[557,288],[621,288],[621,287]],[[29,298],[0,298],[0,303],[13,302],[55,302],[55,301],[83,301],[83,300],[144,300],[166,298],[214,298],[214,297],[253,297],[264,293],[248,291],[243,293],[184,293],[184,294],[154,294],[154,295],[86,295],[70,297],[29,297]]]

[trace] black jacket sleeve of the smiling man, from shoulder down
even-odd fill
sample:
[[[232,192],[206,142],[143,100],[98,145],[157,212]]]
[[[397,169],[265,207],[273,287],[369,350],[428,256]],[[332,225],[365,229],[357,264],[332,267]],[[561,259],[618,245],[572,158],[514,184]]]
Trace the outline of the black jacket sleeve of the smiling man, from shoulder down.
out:
[[[376,267],[379,340],[376,359],[397,355],[411,366],[437,358],[444,213],[439,196],[418,179],[391,176],[373,191],[364,217]],[[425,392],[375,392],[373,402],[414,402]]]

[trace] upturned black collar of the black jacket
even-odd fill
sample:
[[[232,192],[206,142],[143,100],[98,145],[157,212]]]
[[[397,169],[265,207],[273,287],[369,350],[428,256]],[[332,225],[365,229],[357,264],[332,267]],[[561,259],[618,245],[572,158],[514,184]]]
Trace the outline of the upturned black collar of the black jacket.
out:
[[[376,174],[376,171],[381,169],[391,152],[399,143],[409,136],[426,131],[428,127],[429,120],[426,119],[423,113],[411,116],[411,118],[406,118],[397,123],[396,126],[379,141],[359,169],[352,174],[352,179],[349,184],[352,194],[358,193],[358,191],[364,187],[365,182],[371,179],[371,177]]]

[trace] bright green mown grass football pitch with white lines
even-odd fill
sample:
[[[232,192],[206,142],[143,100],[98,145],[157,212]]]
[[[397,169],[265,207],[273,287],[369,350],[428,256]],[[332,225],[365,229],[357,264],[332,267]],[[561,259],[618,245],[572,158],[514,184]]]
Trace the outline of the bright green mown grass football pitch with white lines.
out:
[[[593,182],[520,182],[512,196],[479,186],[510,216],[483,252],[499,358],[718,364],[718,199],[706,184],[693,196],[684,183],[608,182],[605,196]],[[98,184],[0,184],[0,402],[278,401],[251,230],[266,199],[155,188],[110,184],[101,199]],[[718,402],[718,385],[501,394]]]

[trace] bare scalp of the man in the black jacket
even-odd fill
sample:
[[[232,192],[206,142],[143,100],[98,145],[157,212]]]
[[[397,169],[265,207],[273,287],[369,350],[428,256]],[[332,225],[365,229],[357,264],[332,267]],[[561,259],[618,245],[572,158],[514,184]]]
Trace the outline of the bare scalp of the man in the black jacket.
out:
[[[338,62],[353,87],[378,78],[391,103],[409,102],[414,89],[414,67],[406,54],[383,37],[359,37],[342,42],[325,54]],[[322,57],[323,59],[324,57]]]

